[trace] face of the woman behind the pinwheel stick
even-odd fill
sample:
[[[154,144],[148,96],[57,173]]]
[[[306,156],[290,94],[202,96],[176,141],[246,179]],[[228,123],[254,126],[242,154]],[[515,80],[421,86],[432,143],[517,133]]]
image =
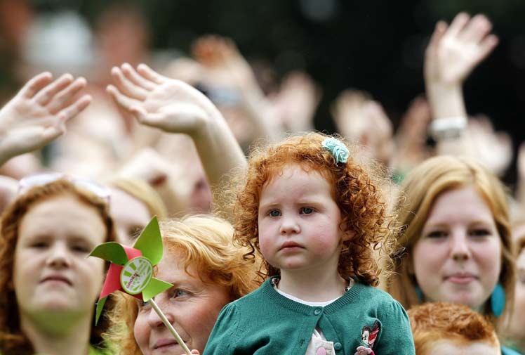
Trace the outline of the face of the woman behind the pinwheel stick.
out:
[[[157,265],[157,278],[173,288],[155,297],[155,302],[190,349],[204,351],[220,310],[231,301],[228,288],[204,283],[194,267],[188,274],[178,262],[178,253],[168,250]],[[195,276],[192,276],[195,275]],[[182,347],[149,305],[140,304],[134,328],[135,341],[145,355],[182,354]]]

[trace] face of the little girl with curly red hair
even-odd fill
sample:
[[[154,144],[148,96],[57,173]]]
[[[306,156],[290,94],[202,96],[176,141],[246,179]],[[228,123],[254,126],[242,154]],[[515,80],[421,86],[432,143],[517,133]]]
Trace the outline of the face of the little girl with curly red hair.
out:
[[[258,228],[260,251],[282,270],[337,272],[341,214],[321,174],[299,165],[283,169],[262,188]]]

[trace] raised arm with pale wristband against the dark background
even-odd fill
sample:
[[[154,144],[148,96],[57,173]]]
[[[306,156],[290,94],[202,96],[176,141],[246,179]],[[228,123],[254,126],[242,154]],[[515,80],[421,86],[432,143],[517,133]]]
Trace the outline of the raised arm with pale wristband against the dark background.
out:
[[[463,82],[498,44],[491,30],[491,22],[484,15],[470,18],[459,13],[450,25],[437,22],[425,53],[425,86],[432,112],[431,131],[438,141],[438,150],[442,143],[449,145],[451,141],[456,144],[453,149],[466,148]]]

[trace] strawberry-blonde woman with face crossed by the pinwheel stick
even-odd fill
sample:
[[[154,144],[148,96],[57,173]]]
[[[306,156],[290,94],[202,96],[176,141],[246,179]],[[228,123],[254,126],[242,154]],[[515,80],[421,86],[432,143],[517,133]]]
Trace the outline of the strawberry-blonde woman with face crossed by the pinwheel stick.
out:
[[[220,218],[196,215],[161,221],[159,226],[164,256],[154,266],[154,277],[172,285],[155,295],[154,302],[187,347],[202,353],[220,309],[258,287],[260,265],[243,259],[246,250],[233,245],[233,228]],[[186,352],[152,302],[124,292],[113,295],[117,299],[110,314],[114,326],[107,337],[118,354]]]

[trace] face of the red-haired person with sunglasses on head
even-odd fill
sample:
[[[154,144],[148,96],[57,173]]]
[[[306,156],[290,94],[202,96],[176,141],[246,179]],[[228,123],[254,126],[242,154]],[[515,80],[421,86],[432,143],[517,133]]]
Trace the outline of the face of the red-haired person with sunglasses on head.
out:
[[[106,240],[97,209],[74,195],[36,202],[22,217],[15,247],[13,285],[20,314],[88,314],[102,287],[104,262],[87,257]]]

